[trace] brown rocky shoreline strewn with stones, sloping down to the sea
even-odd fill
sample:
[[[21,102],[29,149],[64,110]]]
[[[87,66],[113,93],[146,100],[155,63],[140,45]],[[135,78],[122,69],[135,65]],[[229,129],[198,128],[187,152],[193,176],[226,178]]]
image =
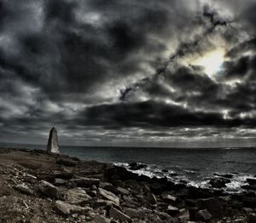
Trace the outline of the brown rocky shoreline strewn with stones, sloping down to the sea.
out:
[[[201,189],[38,150],[0,149],[0,162],[1,222],[256,222],[254,179],[230,194],[230,174]]]

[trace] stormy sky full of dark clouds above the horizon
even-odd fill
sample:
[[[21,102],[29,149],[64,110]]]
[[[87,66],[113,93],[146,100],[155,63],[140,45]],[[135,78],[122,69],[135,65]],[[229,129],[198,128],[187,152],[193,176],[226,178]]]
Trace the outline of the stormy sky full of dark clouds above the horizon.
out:
[[[255,0],[1,0],[0,141],[255,146]]]

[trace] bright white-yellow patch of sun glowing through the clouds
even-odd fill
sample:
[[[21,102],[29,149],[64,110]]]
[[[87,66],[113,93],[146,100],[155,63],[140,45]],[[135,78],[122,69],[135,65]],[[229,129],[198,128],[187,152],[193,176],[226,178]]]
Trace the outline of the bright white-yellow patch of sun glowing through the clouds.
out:
[[[192,65],[203,66],[207,75],[213,76],[217,73],[224,62],[224,49],[215,49],[202,57],[191,61]]]

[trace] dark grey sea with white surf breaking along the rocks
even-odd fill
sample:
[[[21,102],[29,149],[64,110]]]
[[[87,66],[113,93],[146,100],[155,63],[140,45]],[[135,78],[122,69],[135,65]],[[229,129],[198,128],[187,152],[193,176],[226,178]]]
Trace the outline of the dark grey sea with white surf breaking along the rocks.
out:
[[[0,146],[45,150],[42,145],[6,144]],[[149,177],[166,177],[175,183],[210,187],[213,174],[233,174],[227,192],[241,192],[247,178],[256,174],[256,148],[148,148],[60,146],[61,153],[82,160],[114,163],[129,169],[129,163],[143,163],[145,168],[130,170]]]

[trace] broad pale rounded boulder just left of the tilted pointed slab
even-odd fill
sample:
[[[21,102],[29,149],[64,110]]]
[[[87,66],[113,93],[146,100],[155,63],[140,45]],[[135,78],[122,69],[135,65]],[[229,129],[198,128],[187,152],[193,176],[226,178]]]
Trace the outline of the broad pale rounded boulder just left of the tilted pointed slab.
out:
[[[88,203],[92,198],[82,189],[82,188],[73,188],[66,192],[66,201],[67,203],[72,204],[84,204]]]

